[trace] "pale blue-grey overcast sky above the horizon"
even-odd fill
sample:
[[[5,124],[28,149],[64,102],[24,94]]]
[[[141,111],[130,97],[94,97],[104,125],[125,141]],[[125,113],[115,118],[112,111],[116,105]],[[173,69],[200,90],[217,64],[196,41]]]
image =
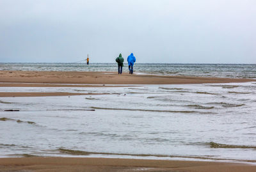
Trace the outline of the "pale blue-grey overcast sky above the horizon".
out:
[[[0,0],[0,62],[256,63],[256,1]]]

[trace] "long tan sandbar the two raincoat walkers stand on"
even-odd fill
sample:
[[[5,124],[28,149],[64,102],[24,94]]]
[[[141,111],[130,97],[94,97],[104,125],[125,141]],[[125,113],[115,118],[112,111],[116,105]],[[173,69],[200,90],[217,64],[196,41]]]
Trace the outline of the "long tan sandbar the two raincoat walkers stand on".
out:
[[[214,78],[169,75],[130,75],[128,73],[118,75],[116,72],[0,71],[0,82],[15,83],[20,82],[41,84],[201,84],[250,81],[255,80],[231,79],[223,77]],[[4,86],[3,83],[1,83],[1,86]]]

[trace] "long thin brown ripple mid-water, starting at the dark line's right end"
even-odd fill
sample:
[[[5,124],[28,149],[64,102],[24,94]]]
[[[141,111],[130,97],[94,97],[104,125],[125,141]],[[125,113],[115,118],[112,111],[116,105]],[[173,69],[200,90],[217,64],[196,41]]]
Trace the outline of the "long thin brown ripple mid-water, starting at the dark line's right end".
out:
[[[208,112],[200,112],[200,111],[169,111],[169,110],[151,110],[151,109],[122,109],[122,108],[109,108],[109,107],[91,107],[91,108],[93,108],[93,109],[104,109],[104,110],[119,110],[119,111],[145,111],[145,112],[159,112],[159,113],[200,113],[200,114],[209,114]]]

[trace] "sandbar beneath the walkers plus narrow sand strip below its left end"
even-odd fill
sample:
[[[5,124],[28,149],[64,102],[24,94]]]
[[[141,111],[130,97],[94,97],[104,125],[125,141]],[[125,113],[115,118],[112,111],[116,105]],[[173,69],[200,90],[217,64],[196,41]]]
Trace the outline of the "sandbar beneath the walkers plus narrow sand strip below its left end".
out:
[[[122,75],[116,72],[0,71],[0,87],[111,87],[132,84],[202,84],[250,82],[253,79],[166,75]],[[0,93],[0,97],[81,95],[79,93]]]

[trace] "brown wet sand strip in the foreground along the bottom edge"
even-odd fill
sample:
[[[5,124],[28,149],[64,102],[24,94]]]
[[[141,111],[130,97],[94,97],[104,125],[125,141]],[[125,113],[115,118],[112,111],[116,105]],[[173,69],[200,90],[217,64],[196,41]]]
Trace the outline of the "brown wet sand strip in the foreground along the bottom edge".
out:
[[[24,157],[0,159],[1,171],[256,171],[256,166],[228,162],[142,160],[67,157]]]

